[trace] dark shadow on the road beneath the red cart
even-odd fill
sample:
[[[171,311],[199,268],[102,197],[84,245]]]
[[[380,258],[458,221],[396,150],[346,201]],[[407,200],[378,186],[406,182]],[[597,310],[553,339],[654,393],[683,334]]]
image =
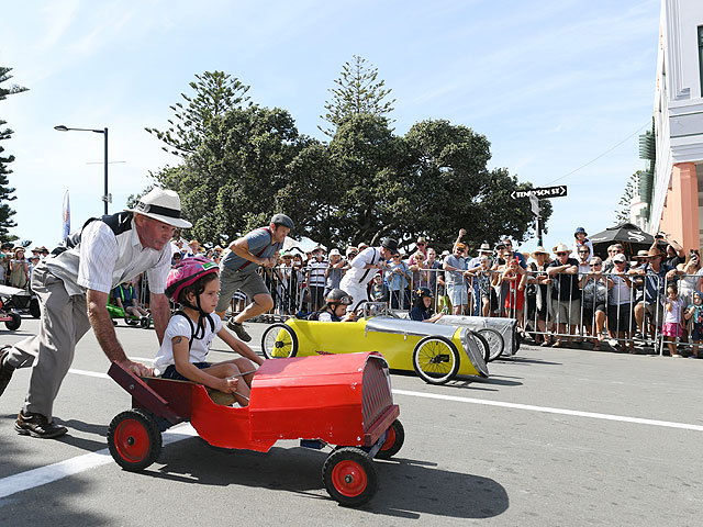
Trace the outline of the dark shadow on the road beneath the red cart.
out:
[[[169,445],[158,470],[144,475],[200,485],[243,485],[283,490],[310,500],[332,498],[322,485],[325,452],[305,448],[272,448],[268,453],[223,450],[199,438]],[[379,490],[362,511],[419,518],[432,514],[488,518],[507,509],[505,489],[494,480],[438,469],[410,459],[376,461]]]

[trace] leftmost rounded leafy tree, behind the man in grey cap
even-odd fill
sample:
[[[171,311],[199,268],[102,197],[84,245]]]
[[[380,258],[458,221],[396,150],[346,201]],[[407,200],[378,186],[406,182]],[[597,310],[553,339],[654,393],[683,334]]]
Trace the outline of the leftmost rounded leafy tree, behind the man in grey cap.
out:
[[[287,166],[306,142],[284,110],[234,108],[210,122],[182,165],[154,176],[180,194],[192,236],[226,243],[280,210],[278,192],[291,183]]]

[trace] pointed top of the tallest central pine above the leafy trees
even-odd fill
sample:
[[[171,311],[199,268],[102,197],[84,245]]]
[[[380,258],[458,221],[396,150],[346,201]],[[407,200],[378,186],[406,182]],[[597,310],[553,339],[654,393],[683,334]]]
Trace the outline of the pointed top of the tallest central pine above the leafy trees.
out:
[[[347,61],[342,67],[342,77],[334,80],[338,88],[327,90],[333,97],[331,101],[325,101],[327,113],[320,115],[334,127],[317,128],[334,137],[339,125],[350,115],[366,113],[381,117],[392,112],[395,99],[383,101],[391,90],[384,88],[384,80],[377,82],[377,78],[378,68],[372,67],[365,58],[354,55],[352,63]]]

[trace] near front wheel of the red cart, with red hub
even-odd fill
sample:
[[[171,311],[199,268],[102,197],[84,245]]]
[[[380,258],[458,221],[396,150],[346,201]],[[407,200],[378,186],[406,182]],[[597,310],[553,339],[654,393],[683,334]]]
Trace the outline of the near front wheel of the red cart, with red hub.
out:
[[[373,460],[356,447],[334,450],[322,468],[322,481],[330,496],[345,507],[364,505],[378,490]]]

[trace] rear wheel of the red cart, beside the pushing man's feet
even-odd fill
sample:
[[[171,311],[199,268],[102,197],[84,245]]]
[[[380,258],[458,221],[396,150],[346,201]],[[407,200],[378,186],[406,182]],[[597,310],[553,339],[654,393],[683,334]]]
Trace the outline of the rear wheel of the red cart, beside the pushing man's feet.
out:
[[[108,427],[112,459],[130,472],[146,469],[161,452],[161,431],[154,416],[141,408],[118,414]]]

